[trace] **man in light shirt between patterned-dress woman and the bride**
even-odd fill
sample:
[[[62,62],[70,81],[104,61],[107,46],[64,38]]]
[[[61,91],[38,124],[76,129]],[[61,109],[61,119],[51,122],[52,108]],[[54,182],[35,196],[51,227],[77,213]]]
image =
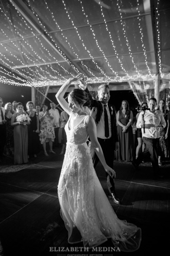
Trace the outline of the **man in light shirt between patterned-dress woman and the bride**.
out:
[[[55,131],[55,141],[54,141],[54,145],[58,146],[59,144],[59,128],[60,128],[60,113],[58,111],[58,109],[56,109],[56,104],[54,102],[50,103],[50,110],[49,113],[52,113],[54,116],[53,119],[53,126],[54,126],[54,131]]]

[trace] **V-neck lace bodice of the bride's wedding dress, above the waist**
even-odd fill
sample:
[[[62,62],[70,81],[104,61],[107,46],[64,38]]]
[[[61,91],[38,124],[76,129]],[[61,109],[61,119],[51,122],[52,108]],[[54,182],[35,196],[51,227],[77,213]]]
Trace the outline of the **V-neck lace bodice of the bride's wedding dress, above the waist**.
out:
[[[85,143],[89,136],[87,129],[86,129],[86,119],[87,119],[88,115],[84,116],[84,118],[81,120],[81,122],[72,129],[69,128],[71,117],[72,117],[72,115],[70,115],[69,121],[65,125],[65,132],[67,135],[67,143],[72,143],[72,144]]]

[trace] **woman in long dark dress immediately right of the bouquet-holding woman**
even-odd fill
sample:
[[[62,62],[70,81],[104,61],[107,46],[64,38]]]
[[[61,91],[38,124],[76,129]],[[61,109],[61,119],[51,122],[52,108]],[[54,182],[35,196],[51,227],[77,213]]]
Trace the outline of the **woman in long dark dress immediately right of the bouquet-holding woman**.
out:
[[[26,104],[29,118],[31,119],[30,125],[28,126],[28,156],[37,157],[39,153],[39,116],[33,111],[33,102],[28,101]]]

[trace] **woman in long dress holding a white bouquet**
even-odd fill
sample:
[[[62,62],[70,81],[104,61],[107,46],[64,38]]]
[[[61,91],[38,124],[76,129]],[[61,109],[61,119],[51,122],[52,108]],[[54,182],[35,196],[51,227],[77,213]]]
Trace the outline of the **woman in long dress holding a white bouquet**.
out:
[[[11,118],[11,125],[14,126],[14,164],[28,162],[28,129],[30,118],[25,114],[23,104],[17,104],[18,112]]]

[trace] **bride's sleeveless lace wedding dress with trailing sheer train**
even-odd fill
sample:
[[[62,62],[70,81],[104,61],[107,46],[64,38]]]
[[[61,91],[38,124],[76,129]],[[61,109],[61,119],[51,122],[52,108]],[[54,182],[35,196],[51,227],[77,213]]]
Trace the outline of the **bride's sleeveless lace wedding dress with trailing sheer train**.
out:
[[[70,116],[70,118],[72,115]],[[122,251],[137,250],[141,229],[117,218],[93,167],[85,116],[73,129],[65,126],[67,145],[58,184],[61,217],[70,244],[95,247],[108,238]]]

